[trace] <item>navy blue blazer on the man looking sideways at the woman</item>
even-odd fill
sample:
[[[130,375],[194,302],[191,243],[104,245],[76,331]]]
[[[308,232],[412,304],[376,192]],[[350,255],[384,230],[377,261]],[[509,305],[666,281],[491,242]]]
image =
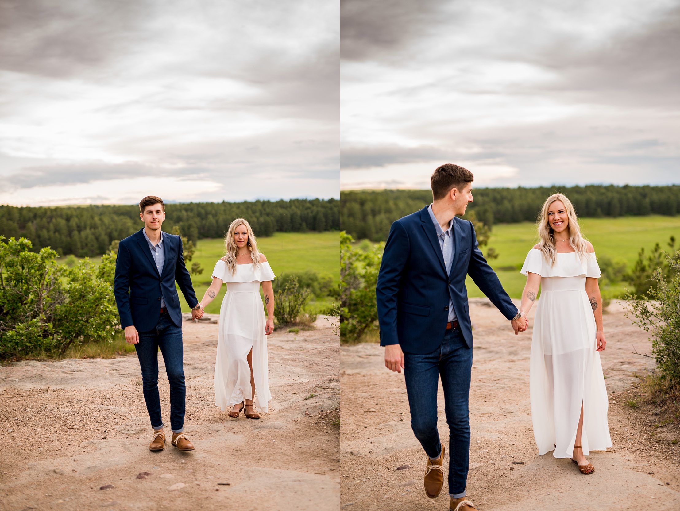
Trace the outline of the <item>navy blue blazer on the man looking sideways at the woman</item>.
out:
[[[405,353],[438,349],[451,298],[460,331],[472,347],[466,274],[507,319],[517,315],[517,307],[479,250],[472,222],[454,217],[454,249],[447,275],[427,207],[392,224],[375,288],[381,346],[399,343]]]

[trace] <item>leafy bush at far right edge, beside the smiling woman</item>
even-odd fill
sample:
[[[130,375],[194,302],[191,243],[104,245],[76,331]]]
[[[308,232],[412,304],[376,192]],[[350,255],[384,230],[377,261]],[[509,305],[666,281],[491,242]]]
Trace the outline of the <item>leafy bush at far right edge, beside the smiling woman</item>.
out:
[[[626,298],[627,317],[652,335],[652,353],[667,393],[680,394],[680,252],[664,253],[651,274],[649,290]]]

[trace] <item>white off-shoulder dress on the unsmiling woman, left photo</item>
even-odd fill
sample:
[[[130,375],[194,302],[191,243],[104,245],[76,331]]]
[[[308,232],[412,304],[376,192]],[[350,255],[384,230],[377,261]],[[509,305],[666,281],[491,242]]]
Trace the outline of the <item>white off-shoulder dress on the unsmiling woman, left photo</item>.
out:
[[[252,349],[256,405],[269,411],[269,380],[267,378],[267,336],[265,310],[260,298],[260,282],[274,279],[269,262],[239,264],[231,274],[226,263],[219,260],[212,273],[226,283],[226,294],[220,308],[220,325],[215,362],[215,404],[231,410],[244,399],[252,399],[248,353]]]

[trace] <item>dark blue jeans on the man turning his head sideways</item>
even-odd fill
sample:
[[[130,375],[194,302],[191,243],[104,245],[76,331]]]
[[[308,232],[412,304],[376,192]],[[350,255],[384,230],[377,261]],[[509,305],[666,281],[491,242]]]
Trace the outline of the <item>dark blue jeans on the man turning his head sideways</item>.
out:
[[[449,495],[465,495],[470,464],[470,374],[472,349],[460,330],[447,330],[439,349],[426,355],[404,353],[404,378],[411,408],[411,427],[425,453],[441,454],[437,430],[437,387],[444,391],[444,411],[449,425]]]

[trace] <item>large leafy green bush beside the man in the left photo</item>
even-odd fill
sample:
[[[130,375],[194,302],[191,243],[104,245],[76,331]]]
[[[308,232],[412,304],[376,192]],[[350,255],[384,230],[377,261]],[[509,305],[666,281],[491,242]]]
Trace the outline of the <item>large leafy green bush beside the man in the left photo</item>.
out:
[[[49,247],[0,236],[0,359],[64,353],[71,345],[111,341],[118,325],[115,257],[99,266],[56,264]]]

